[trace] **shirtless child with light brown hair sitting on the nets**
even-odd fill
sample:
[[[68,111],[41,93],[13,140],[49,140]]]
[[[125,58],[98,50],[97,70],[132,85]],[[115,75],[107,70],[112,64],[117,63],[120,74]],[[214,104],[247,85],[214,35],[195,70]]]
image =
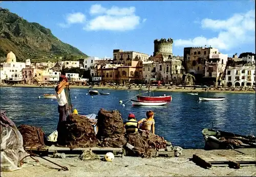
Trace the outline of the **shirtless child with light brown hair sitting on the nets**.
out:
[[[142,123],[140,130],[142,131],[152,131],[153,134],[155,134],[155,119],[154,119],[154,112],[153,111],[147,111],[146,117],[138,121],[138,124]]]

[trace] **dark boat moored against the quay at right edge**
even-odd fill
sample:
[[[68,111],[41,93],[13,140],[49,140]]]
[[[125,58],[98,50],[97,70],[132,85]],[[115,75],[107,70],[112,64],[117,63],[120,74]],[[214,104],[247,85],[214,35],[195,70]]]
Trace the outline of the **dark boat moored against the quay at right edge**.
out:
[[[244,136],[215,129],[203,129],[205,149],[255,148],[256,139],[253,135]]]

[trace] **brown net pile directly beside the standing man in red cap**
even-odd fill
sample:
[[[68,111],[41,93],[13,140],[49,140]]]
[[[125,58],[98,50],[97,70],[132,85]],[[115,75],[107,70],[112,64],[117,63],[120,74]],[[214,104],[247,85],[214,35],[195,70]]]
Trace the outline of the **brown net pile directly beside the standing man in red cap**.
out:
[[[65,141],[61,145],[64,144],[73,149],[76,147],[96,147],[99,143],[89,118],[70,114],[65,126],[65,133],[58,134],[58,139]]]

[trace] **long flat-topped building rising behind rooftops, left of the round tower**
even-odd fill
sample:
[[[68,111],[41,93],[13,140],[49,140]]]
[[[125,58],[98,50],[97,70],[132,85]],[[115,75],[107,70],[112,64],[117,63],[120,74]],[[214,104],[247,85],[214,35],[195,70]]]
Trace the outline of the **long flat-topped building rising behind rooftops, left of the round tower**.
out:
[[[113,50],[113,63],[114,64],[123,64],[125,61],[133,60],[133,61],[147,61],[147,54],[139,53],[139,52],[124,52],[122,49],[114,49]]]

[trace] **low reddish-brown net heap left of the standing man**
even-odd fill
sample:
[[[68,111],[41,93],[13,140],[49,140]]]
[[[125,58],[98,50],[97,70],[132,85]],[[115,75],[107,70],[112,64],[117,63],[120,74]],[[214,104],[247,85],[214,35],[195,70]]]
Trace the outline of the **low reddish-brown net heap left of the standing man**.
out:
[[[45,132],[32,125],[19,125],[18,131],[23,137],[24,147],[44,147]]]

